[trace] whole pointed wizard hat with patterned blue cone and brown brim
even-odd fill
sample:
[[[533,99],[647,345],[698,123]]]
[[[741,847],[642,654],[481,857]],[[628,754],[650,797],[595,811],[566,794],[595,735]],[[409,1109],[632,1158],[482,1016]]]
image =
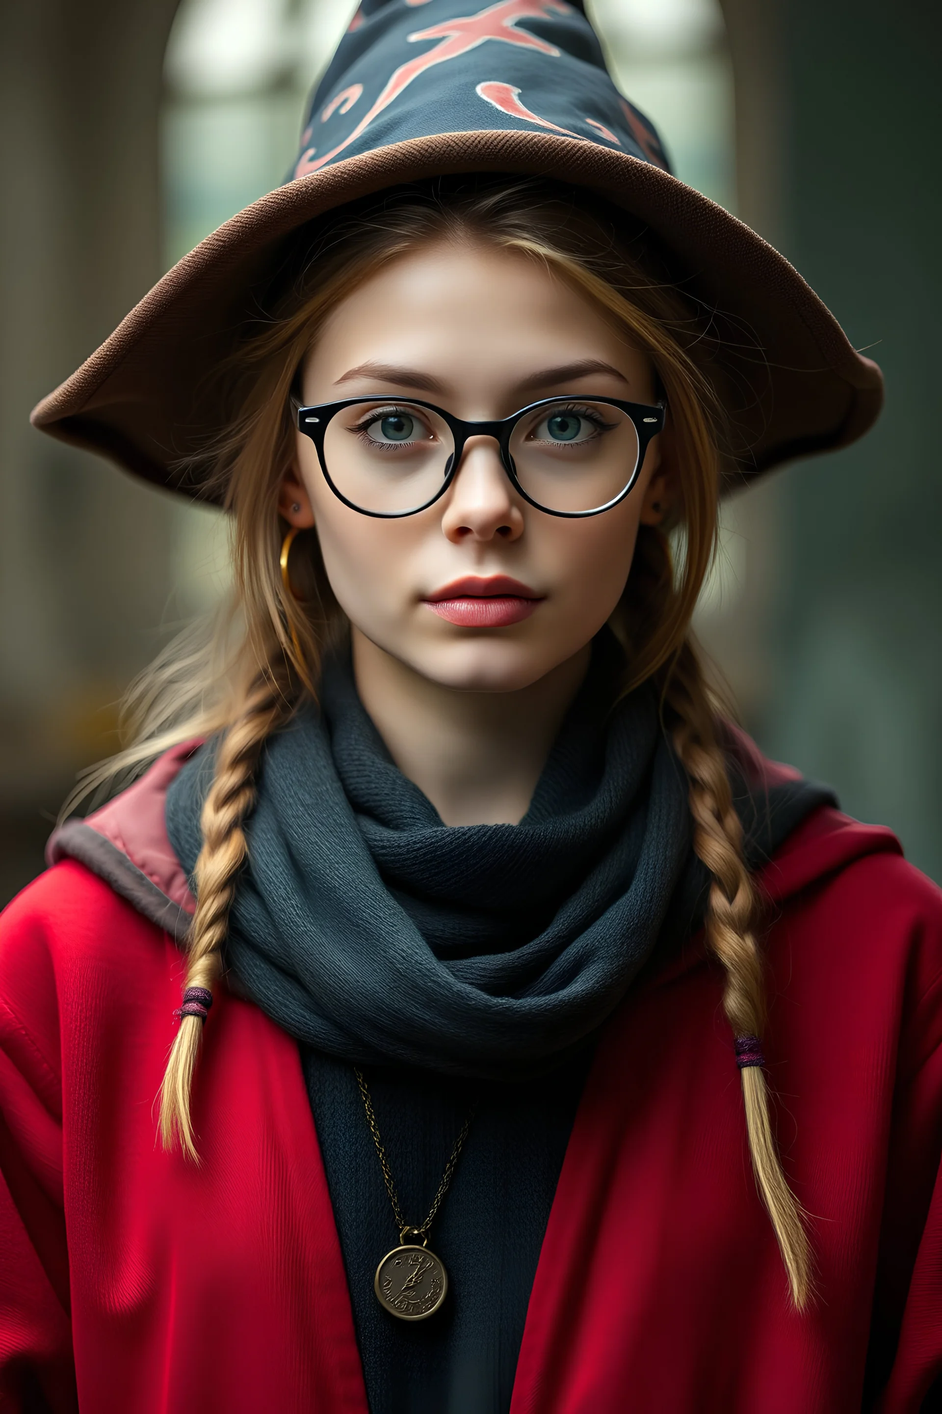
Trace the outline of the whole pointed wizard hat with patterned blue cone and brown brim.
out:
[[[648,228],[710,314],[737,409],[736,478],[843,447],[880,411],[861,358],[792,266],[678,181],[651,123],[616,89],[580,3],[363,0],[314,93],[290,180],[185,256],[32,411],[35,427],[199,495],[181,460],[222,430],[206,373],[257,318],[288,238],[387,187],[507,173],[590,188]]]

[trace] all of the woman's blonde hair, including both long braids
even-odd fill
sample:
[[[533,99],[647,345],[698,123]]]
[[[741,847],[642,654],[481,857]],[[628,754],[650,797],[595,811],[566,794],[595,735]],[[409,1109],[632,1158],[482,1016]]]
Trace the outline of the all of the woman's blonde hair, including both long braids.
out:
[[[631,571],[612,625],[627,649],[624,690],[652,680],[689,779],[693,848],[710,871],[706,943],[725,969],[723,1008],[734,1036],[761,1036],[765,1019],[757,937],[760,899],[743,857],[733,809],[722,718],[691,636],[691,618],[716,549],[725,440],[710,366],[708,321],[671,284],[643,233],[624,239],[586,194],[568,198],[537,181],[452,180],[384,194],[302,232],[285,252],[271,314],[246,342],[226,378],[239,411],[208,452],[210,489],[232,512],[233,591],[223,621],[202,643],[172,645],[134,689],[137,744],[112,769],[191,735],[217,735],[215,775],[202,810],[195,870],[196,912],[185,987],[212,990],[222,970],[227,913],[246,860],[244,822],[266,738],[316,693],[325,645],[343,617],[319,559],[302,536],[282,583],[284,525],[278,489],[294,460],[292,390],[319,328],[345,296],[398,255],[431,240],[484,240],[539,260],[579,290],[651,359],[667,397],[678,502],[672,508],[678,563],[665,536],[641,526]],[[315,277],[316,279],[312,279]],[[165,1147],[179,1141],[196,1159],[191,1089],[202,1019],[182,1017],[161,1089]],[[804,1215],[777,1154],[760,1066],[741,1070],[753,1171],[788,1273],[795,1305],[811,1295]]]

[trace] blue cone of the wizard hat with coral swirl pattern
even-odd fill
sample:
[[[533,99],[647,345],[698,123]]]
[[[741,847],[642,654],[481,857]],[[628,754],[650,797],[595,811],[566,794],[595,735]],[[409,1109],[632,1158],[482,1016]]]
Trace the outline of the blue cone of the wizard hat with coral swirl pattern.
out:
[[[566,0],[363,0],[311,100],[292,177],[438,133],[562,133],[669,171]]]

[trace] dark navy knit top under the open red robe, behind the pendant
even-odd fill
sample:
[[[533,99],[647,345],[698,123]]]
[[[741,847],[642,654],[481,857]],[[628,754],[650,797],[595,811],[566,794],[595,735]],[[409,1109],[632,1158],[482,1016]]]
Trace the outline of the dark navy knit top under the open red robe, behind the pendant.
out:
[[[527,1304],[590,1052],[525,1085],[367,1072],[405,1222],[425,1220],[460,1127],[482,1104],[428,1246],[448,1271],[443,1305],[400,1321],[373,1291],[398,1246],[352,1066],[302,1049],[353,1301],[371,1414],[507,1414]]]

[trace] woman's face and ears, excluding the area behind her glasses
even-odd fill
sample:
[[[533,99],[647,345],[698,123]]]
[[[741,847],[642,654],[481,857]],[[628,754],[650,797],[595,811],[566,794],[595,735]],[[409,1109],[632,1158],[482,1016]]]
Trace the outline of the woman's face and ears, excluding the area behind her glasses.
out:
[[[418,397],[470,421],[554,396],[652,403],[654,387],[647,358],[541,264],[442,240],[338,305],[305,361],[302,396]],[[475,437],[439,501],[381,520],[338,499],[298,434],[280,509],[316,526],[354,635],[443,687],[513,691],[578,655],[614,609],[638,523],[657,522],[665,499],[658,443],[620,505],[569,520],[524,501],[497,443]]]

